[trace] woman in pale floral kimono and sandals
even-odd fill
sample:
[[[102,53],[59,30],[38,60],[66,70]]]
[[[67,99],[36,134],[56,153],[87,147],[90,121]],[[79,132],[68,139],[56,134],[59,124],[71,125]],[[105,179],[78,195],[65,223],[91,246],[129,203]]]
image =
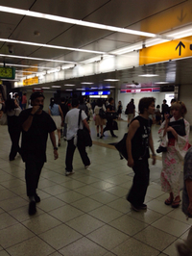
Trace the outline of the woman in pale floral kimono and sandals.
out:
[[[184,103],[177,101],[171,106],[173,116],[169,119],[169,115],[165,115],[158,130],[160,145],[167,148],[162,152],[161,188],[163,192],[169,192],[165,204],[173,208],[180,205],[180,170],[189,146],[190,125],[183,118],[186,112]]]

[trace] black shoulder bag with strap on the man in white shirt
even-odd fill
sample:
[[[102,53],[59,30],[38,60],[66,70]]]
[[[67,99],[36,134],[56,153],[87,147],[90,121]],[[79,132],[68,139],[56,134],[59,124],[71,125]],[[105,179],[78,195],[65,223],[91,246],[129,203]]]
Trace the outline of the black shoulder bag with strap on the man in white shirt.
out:
[[[92,140],[86,127],[84,127],[83,129],[80,129],[81,115],[82,115],[82,110],[80,110],[80,113],[79,113],[79,120],[78,120],[79,129],[77,132],[77,136],[78,136],[77,145],[92,146]]]

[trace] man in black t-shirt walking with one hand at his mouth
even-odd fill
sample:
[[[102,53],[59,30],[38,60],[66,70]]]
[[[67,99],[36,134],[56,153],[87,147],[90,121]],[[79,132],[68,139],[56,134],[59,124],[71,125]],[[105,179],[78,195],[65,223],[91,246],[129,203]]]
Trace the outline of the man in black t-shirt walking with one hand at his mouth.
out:
[[[25,179],[27,195],[30,199],[29,215],[36,214],[36,202],[40,197],[36,194],[41,169],[46,162],[46,143],[48,133],[54,147],[54,157],[58,158],[58,148],[54,131],[57,129],[52,117],[42,111],[44,95],[34,92],[31,95],[32,109],[19,115],[22,128],[21,153],[25,162]]]

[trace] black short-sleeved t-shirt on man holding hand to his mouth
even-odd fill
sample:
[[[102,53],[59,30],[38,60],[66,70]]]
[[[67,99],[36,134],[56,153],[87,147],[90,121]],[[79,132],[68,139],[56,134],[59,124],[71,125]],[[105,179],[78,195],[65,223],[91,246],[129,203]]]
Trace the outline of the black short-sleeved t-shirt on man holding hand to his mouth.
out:
[[[19,115],[21,127],[31,111],[31,109],[27,109]],[[30,129],[27,132],[22,129],[21,151],[23,161],[26,162],[27,157],[33,155],[39,161],[46,162],[48,133],[52,133],[56,129],[54,120],[46,112],[42,111],[40,115],[34,115]]]

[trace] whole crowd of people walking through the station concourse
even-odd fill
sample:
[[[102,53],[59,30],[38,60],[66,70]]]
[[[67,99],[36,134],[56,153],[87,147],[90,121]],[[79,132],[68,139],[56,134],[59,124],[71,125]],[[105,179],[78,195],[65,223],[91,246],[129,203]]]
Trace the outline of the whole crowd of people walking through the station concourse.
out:
[[[76,147],[78,147],[84,167],[87,168],[91,165],[84,142],[78,140],[78,130],[83,130],[85,127],[90,134],[88,122],[94,115],[97,137],[103,139],[105,132],[109,131],[112,137],[117,138],[113,132],[117,129],[115,128],[115,123],[117,123],[115,119],[121,118],[123,106],[119,101],[117,111],[115,111],[113,98],[108,98],[108,101],[98,99],[91,103],[88,100],[85,101],[84,97],[61,98],[60,104],[51,98],[48,113],[46,113],[43,111],[44,95],[41,92],[34,92],[30,99],[31,107],[27,109],[27,99],[23,98],[23,110],[19,106],[17,95],[14,99],[6,101],[1,99],[1,104],[7,114],[8,131],[12,141],[9,159],[13,161],[16,154],[19,153],[25,162],[27,195],[30,200],[29,214],[34,215],[36,214],[36,203],[40,201],[36,189],[42,166],[46,162],[48,134],[53,144],[55,159],[59,157],[55,131],[57,130],[58,133],[58,146],[60,146],[61,135],[67,141],[65,175],[72,175],[75,173],[73,156]],[[190,125],[184,118],[187,109],[181,101],[173,99],[169,107],[166,100],[163,100],[160,112],[159,105],[155,108],[155,103],[156,99],[153,97],[141,98],[138,104],[139,115],[135,116],[132,99],[125,111],[129,122],[126,140],[128,166],[132,167],[134,173],[132,188],[127,195],[127,200],[136,212],[147,209],[144,202],[150,180],[149,149],[152,152],[153,165],[156,164],[152,136],[153,118],[150,116],[156,115],[158,116],[156,122],[158,121],[157,124],[160,124],[158,129],[160,145],[156,152],[162,153],[161,189],[169,194],[164,203],[173,208],[180,206],[180,171],[185,159],[182,209],[185,215],[192,218],[192,149],[189,144]],[[19,146],[20,133],[22,133],[21,146]],[[189,234],[188,240],[190,237]],[[178,244],[180,253],[184,249],[190,249],[188,244],[188,242]]]

